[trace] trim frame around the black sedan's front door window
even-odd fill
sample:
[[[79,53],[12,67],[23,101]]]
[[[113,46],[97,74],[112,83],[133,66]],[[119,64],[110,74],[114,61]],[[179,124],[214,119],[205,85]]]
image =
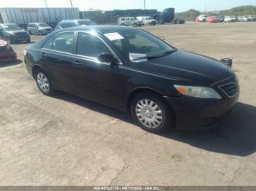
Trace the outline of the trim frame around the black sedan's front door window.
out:
[[[80,33],[92,34],[91,31],[78,31],[78,34],[80,34]],[[76,41],[76,43],[75,43],[75,55],[80,57],[80,58],[89,59],[90,61],[98,61],[98,59],[96,57],[91,57],[91,56],[86,56],[86,55],[78,55],[78,34],[75,38],[75,41]],[[112,48],[101,38],[101,36],[99,36],[98,34],[94,34],[94,35],[97,36],[97,38],[100,39],[108,47],[110,52],[117,58],[118,64],[123,65],[120,58],[118,58],[118,56],[116,55],[116,52],[114,52],[112,50]]]

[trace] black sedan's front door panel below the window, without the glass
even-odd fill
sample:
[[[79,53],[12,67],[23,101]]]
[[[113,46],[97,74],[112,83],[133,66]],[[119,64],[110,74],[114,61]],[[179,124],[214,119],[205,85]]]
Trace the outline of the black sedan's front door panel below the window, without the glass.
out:
[[[80,62],[80,66],[73,70],[76,93],[93,101],[121,106],[124,91],[122,69],[87,58],[77,57],[75,60]]]

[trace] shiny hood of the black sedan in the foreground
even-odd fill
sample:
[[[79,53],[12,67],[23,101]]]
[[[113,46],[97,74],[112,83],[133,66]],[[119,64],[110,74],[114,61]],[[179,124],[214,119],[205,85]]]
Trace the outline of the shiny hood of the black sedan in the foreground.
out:
[[[212,85],[234,74],[225,63],[192,52],[178,50],[162,58],[132,63],[135,68],[159,77],[186,82],[187,85]]]

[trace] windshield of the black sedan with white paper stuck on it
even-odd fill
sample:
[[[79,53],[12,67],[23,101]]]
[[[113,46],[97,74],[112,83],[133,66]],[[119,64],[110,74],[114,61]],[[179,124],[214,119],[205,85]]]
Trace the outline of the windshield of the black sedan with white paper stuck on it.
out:
[[[105,36],[129,61],[159,58],[176,51],[176,48],[170,47],[146,31],[130,30]]]

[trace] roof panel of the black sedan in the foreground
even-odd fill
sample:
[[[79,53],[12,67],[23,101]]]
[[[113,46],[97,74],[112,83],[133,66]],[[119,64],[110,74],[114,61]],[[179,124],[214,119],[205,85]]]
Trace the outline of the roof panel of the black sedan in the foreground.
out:
[[[97,31],[99,34],[118,33],[122,31],[140,30],[128,26],[83,26],[64,28],[59,31]]]

